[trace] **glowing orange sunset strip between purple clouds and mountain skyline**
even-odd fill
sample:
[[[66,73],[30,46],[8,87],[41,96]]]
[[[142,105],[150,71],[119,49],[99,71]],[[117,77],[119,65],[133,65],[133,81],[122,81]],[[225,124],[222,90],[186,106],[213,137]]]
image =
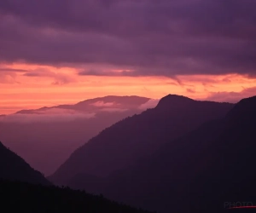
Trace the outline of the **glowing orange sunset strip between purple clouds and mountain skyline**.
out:
[[[230,75],[177,75],[175,78],[151,76],[79,76],[70,67],[29,64],[4,65],[0,90],[0,113],[20,109],[72,104],[105,95],[140,95],[160,99],[168,94],[198,100],[238,101],[256,92],[256,79]],[[47,72],[46,72],[47,71]],[[236,94],[237,93],[237,94]]]

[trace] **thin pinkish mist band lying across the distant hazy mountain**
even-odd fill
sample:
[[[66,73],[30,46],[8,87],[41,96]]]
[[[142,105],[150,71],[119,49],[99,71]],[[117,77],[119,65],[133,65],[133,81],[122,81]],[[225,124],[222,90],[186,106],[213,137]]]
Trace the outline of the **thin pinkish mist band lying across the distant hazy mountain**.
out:
[[[142,98],[143,99],[143,98]],[[118,100],[118,98],[117,98]],[[96,101],[88,105],[94,108],[75,109],[75,105],[43,107],[37,110],[22,110],[14,114],[0,115],[0,123],[53,123],[53,122],[70,122],[77,119],[96,118],[100,112],[111,112],[118,114],[119,112],[142,112],[147,108],[156,107],[159,100],[149,100],[143,104],[136,104],[131,107],[129,104],[120,102]],[[131,103],[130,103],[131,104]]]

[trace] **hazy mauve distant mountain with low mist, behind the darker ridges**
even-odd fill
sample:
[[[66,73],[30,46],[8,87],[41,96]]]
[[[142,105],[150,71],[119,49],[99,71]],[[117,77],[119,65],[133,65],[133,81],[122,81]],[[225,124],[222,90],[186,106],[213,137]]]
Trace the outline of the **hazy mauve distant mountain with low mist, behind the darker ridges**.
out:
[[[0,140],[49,175],[101,130],[157,103],[135,95],[106,96],[75,105],[21,110],[0,117]]]

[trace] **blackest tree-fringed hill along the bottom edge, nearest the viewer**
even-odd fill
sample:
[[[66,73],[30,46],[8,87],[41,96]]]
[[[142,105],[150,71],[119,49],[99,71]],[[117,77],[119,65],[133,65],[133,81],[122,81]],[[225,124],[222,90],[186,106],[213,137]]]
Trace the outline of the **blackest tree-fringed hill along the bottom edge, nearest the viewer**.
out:
[[[44,187],[19,181],[0,181],[3,212],[27,213],[149,213],[67,187]]]

